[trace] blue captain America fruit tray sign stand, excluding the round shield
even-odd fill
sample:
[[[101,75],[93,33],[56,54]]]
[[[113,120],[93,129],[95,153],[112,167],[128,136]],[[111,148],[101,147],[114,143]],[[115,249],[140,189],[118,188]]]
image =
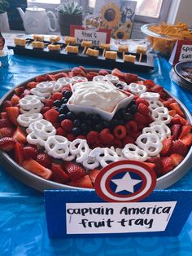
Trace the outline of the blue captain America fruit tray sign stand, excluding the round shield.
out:
[[[192,190],[158,190],[144,201],[110,203],[94,190],[50,190],[45,204],[51,238],[177,236],[192,210]]]

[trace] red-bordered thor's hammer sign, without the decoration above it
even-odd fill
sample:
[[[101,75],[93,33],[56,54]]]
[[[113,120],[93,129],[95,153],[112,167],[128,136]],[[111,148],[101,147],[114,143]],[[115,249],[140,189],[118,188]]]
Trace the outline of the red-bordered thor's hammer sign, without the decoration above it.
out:
[[[84,27],[71,25],[70,35],[76,38],[76,42],[81,44],[83,40],[92,41],[94,46],[100,43],[109,43],[111,39],[110,29],[98,29],[98,31],[85,30]]]

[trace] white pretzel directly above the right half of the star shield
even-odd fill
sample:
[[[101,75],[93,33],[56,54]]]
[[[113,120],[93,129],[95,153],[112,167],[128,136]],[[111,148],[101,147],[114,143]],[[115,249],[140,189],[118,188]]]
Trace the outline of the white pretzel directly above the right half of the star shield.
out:
[[[148,155],[144,150],[138,148],[132,143],[126,144],[122,152],[124,154],[124,157],[129,160],[146,161],[146,159],[148,158]]]

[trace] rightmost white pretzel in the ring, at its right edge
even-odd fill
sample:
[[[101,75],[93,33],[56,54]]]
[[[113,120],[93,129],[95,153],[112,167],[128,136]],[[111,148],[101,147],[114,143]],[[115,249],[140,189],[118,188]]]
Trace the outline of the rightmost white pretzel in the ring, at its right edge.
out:
[[[153,120],[162,121],[164,124],[170,123],[172,119],[172,117],[168,113],[168,108],[164,107],[155,108],[151,112],[151,117],[153,118]]]

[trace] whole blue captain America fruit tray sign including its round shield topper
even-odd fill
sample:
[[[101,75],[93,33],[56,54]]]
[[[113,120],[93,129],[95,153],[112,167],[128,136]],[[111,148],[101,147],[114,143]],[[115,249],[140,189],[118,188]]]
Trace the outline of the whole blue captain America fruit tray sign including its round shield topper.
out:
[[[152,192],[155,183],[154,171],[144,163],[118,161],[100,171],[96,192],[45,191],[50,238],[177,236],[192,209],[192,191]]]

